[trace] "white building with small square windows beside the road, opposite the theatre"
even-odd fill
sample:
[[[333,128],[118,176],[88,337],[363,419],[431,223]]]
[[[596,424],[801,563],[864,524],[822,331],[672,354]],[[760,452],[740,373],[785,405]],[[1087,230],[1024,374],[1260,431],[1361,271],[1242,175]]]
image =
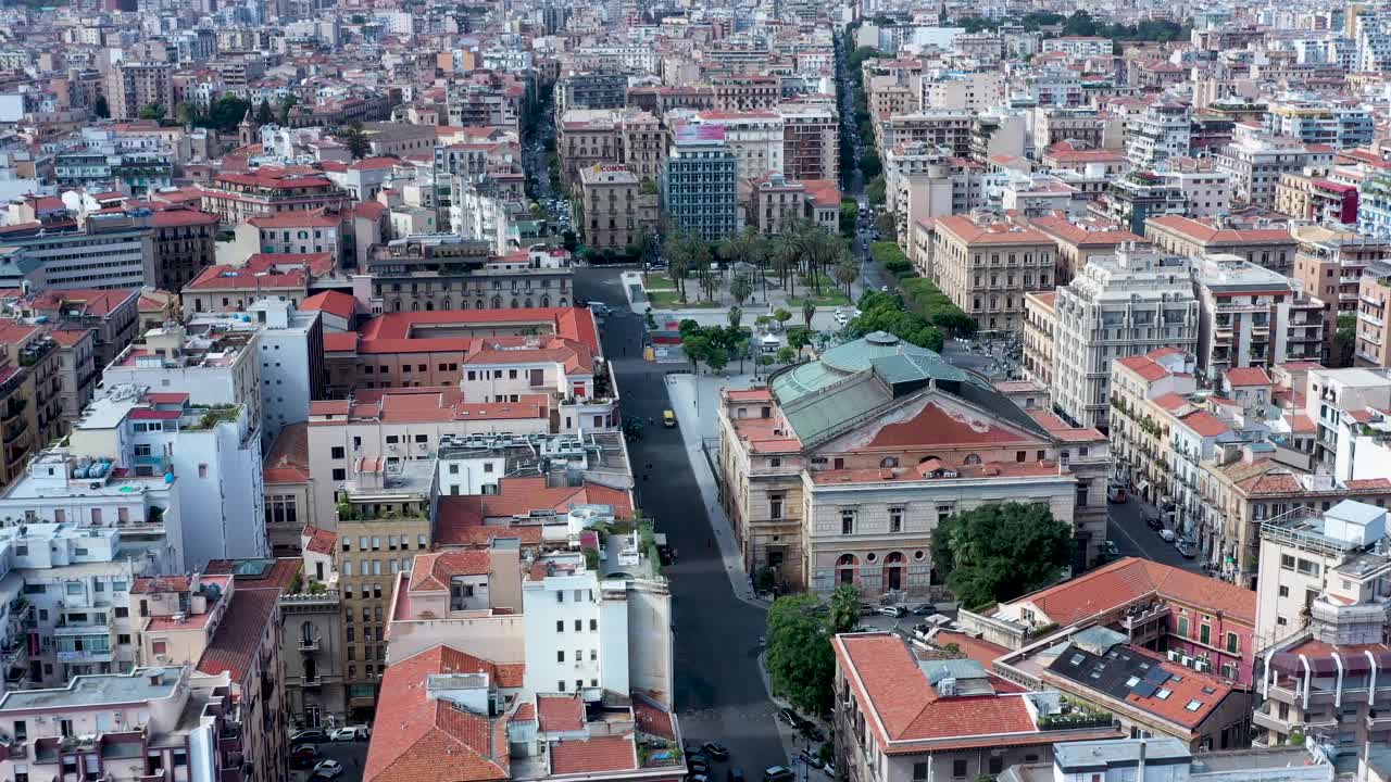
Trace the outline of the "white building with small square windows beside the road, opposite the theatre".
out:
[[[541,555],[522,582],[526,689],[583,693],[640,690],[669,705],[673,682],[670,593],[644,551],[643,530],[600,540],[613,508],[570,511],[563,533],[579,551]]]

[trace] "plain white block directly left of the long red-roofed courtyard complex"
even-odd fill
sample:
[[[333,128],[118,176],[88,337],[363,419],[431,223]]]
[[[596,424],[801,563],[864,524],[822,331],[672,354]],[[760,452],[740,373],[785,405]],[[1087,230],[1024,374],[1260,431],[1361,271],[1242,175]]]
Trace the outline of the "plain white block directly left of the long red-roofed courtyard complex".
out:
[[[260,363],[260,434],[268,448],[285,424],[309,420],[309,404],[324,398],[324,328],[317,310],[267,298],[246,312],[199,313],[191,327],[256,333]]]

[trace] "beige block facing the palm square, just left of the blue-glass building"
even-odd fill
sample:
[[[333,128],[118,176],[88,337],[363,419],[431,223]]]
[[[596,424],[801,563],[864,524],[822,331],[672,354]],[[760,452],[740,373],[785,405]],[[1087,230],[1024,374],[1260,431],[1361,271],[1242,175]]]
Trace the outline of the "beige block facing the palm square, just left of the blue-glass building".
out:
[[[590,166],[580,168],[580,231],[591,248],[623,250],[657,232],[657,191],[644,192],[632,166]]]

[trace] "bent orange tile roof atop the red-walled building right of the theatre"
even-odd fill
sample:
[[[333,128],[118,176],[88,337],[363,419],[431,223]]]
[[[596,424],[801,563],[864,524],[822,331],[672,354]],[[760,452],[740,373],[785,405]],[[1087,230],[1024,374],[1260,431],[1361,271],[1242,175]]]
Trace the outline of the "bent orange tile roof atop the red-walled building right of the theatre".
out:
[[[1029,604],[1050,622],[1068,626],[1096,614],[1135,603],[1146,596],[1185,603],[1246,623],[1256,621],[1256,593],[1171,568],[1128,557],[1084,573],[1070,582],[1010,601]]]

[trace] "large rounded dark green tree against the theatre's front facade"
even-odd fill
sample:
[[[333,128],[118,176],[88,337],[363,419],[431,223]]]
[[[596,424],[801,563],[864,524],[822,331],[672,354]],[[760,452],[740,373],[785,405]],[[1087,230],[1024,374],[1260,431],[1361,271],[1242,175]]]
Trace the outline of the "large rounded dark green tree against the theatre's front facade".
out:
[[[1042,504],[981,505],[944,519],[932,540],[933,566],[972,608],[1056,582],[1071,558],[1071,525]]]

